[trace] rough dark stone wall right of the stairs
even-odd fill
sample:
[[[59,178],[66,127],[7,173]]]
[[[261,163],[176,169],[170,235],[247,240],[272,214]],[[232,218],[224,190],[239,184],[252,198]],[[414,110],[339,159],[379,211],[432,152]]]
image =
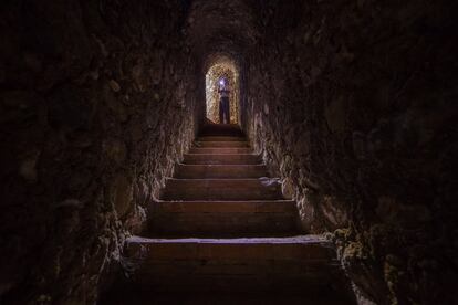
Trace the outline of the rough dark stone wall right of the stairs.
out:
[[[454,1],[269,1],[243,126],[361,297],[456,304]],[[454,38],[455,36],[455,38]]]

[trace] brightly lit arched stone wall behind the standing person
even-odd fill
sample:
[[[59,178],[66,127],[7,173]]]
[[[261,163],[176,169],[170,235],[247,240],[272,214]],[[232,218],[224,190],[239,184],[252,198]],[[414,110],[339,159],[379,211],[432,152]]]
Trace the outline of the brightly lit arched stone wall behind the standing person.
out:
[[[215,56],[205,76],[207,118],[214,123],[220,123],[218,86],[221,78],[226,78],[230,86],[230,122],[239,124],[239,72],[235,61],[226,55]]]

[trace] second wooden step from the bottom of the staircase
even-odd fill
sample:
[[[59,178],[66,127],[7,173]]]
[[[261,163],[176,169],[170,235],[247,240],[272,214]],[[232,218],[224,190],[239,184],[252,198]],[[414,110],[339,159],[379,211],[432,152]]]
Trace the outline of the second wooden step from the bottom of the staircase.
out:
[[[153,236],[266,236],[298,234],[292,200],[160,201],[148,207]]]

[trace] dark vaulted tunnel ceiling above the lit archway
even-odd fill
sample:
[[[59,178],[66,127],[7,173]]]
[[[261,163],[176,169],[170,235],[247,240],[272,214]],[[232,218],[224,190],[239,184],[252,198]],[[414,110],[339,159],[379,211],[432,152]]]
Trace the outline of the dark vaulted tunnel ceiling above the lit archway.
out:
[[[201,62],[215,53],[239,57],[254,45],[258,27],[252,11],[253,7],[241,0],[194,1],[187,32],[189,44]]]

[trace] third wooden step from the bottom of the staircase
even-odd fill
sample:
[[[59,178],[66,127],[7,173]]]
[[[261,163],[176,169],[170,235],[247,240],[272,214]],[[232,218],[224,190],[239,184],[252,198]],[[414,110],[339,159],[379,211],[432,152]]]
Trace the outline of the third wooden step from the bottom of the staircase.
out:
[[[162,200],[279,200],[275,179],[167,179]]]

